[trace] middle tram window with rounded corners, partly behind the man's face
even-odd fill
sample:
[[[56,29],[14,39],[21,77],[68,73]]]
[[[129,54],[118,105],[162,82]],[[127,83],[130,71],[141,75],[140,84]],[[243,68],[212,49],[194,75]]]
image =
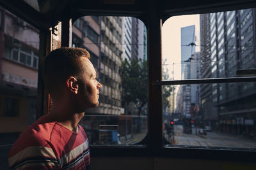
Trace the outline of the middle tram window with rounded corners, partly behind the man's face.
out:
[[[147,34],[138,18],[86,16],[73,25],[72,46],[86,48],[100,104],[82,125],[90,145],[132,145],[147,134]]]

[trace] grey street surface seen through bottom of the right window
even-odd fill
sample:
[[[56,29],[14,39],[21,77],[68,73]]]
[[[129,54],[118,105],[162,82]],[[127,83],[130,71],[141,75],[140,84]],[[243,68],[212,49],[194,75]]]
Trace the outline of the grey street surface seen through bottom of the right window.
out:
[[[195,127],[192,129],[192,134],[184,134],[182,125],[174,125],[174,133],[175,145],[256,148],[255,139],[218,132],[207,132],[207,135],[199,135],[196,134]]]

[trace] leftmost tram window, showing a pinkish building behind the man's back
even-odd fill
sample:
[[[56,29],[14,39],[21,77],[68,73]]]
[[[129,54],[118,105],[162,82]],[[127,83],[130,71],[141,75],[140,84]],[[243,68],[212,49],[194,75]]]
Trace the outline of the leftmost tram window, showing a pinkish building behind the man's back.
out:
[[[0,6],[0,148],[36,117],[39,31]]]

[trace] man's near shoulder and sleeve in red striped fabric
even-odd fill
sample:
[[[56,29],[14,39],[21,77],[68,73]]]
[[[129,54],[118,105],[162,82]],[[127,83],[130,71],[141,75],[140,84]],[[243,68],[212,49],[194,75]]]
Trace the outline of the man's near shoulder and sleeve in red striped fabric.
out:
[[[33,167],[58,167],[58,159],[50,144],[51,124],[35,122],[30,125],[12,146],[8,162],[11,169]],[[55,169],[55,168],[54,168]]]

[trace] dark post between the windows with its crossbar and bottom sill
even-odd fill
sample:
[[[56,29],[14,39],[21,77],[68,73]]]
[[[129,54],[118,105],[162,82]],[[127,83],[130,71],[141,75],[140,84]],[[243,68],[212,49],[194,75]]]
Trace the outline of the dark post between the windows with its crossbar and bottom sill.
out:
[[[152,9],[156,11],[156,8]],[[154,14],[154,12],[152,12]],[[88,14],[87,14],[88,15]],[[108,16],[108,15],[106,15]],[[161,67],[161,20],[160,16],[150,15],[146,24],[148,30],[148,132],[140,143],[135,145],[93,145],[92,157],[175,157],[188,159],[239,160],[253,162],[256,150],[251,148],[224,148],[209,146],[179,146],[164,143],[162,129],[162,86],[203,83],[230,83],[256,81],[256,77],[243,78],[207,78],[197,80],[162,81]],[[142,21],[143,18],[140,18]],[[156,27],[156,23],[159,23]],[[153,28],[154,27],[154,28]],[[151,30],[150,30],[151,28]],[[159,57],[156,57],[159,56]],[[150,69],[154,67],[154,69]],[[157,101],[157,102],[156,102]],[[158,114],[156,114],[158,113]],[[248,159],[249,157],[249,159]]]

